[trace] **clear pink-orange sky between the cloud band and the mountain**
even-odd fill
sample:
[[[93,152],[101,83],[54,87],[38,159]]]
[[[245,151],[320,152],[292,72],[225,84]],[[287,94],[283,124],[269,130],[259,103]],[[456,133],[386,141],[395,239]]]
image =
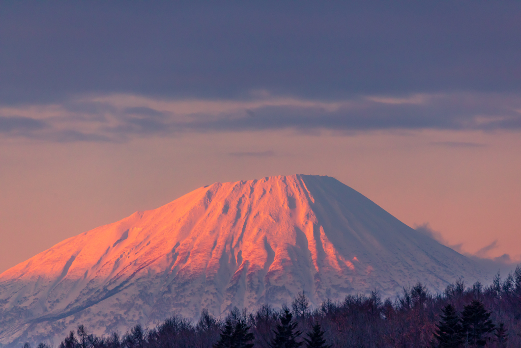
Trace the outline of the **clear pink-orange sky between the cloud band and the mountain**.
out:
[[[521,137],[495,131],[291,130],[183,134],[123,143],[0,143],[0,271],[61,240],[214,182],[324,174],[446,244],[521,253]]]

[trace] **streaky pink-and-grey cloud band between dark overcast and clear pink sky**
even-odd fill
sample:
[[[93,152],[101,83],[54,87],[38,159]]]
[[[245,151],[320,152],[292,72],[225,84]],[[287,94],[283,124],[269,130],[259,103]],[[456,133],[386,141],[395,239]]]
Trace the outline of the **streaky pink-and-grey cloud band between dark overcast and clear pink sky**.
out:
[[[381,99],[372,96],[333,101],[272,94],[247,100],[168,100],[116,94],[71,99],[63,104],[0,105],[0,132],[7,137],[49,141],[126,141],[189,132],[278,129],[314,134],[421,129],[521,130],[519,107],[521,95],[495,93],[436,93]],[[462,141],[439,141],[431,145],[486,146]]]

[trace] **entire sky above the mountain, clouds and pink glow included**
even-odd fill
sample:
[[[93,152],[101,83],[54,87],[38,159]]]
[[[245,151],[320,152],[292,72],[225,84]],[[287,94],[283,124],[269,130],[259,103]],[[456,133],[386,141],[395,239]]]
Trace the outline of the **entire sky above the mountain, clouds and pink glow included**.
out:
[[[214,182],[336,177],[521,262],[521,3],[0,2],[0,272]]]

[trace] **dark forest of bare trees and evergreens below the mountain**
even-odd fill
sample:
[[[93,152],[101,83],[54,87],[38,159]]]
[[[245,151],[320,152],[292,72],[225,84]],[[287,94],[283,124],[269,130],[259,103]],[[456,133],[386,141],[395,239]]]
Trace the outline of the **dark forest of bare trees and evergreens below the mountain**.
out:
[[[224,319],[203,310],[199,321],[172,316],[154,328],[98,337],[80,325],[59,348],[420,348],[521,347],[521,267],[491,285],[457,280],[441,294],[418,283],[394,299],[349,295],[311,308],[304,293],[276,310],[234,308]],[[31,348],[29,343],[24,348]],[[48,348],[40,343],[38,348]]]

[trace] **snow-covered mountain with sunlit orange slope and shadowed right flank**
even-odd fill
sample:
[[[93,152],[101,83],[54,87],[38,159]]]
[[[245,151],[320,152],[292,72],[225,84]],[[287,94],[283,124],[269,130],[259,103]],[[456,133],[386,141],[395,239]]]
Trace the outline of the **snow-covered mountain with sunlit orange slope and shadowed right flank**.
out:
[[[71,237],[0,274],[0,342],[98,334],[172,313],[220,315],[420,281],[433,291],[477,265],[328,176],[216,183]]]

